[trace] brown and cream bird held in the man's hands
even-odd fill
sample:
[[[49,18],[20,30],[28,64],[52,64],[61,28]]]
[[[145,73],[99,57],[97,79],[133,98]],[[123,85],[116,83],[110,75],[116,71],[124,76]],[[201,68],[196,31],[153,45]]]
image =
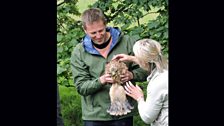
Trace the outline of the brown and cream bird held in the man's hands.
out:
[[[121,76],[128,71],[128,67],[124,62],[119,60],[111,60],[105,65],[105,73],[110,74],[114,80],[110,87],[109,96],[111,104],[107,112],[113,116],[122,116],[131,112],[134,106],[128,102],[125,89],[122,86]]]

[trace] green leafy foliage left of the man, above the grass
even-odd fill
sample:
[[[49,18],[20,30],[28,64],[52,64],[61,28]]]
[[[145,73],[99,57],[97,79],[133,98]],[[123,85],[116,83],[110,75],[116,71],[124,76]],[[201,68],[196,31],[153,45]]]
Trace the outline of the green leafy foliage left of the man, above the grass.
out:
[[[70,56],[73,47],[84,36],[76,6],[78,0],[57,1],[57,80],[58,84],[73,86]]]

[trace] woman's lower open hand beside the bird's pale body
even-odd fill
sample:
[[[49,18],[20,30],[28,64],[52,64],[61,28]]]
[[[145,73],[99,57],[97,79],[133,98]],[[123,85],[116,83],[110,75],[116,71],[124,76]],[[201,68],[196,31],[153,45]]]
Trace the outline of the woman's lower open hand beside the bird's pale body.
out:
[[[144,100],[143,91],[138,85],[134,86],[130,81],[128,81],[124,88],[125,93],[136,101]]]

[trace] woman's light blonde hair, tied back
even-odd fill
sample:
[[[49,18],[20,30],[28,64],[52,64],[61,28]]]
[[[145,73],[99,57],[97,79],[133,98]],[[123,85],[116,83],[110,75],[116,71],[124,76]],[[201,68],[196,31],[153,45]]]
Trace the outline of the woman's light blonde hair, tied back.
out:
[[[150,70],[149,63],[155,63],[159,72],[168,69],[168,60],[162,55],[161,45],[153,39],[142,39],[133,46],[135,57],[139,65],[145,70]]]

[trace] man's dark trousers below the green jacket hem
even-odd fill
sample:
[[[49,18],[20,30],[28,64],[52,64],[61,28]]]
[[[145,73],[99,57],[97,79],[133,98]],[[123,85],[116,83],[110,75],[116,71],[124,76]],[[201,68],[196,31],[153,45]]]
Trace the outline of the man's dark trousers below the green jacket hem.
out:
[[[84,120],[84,126],[133,126],[133,117],[112,121],[87,121]]]

